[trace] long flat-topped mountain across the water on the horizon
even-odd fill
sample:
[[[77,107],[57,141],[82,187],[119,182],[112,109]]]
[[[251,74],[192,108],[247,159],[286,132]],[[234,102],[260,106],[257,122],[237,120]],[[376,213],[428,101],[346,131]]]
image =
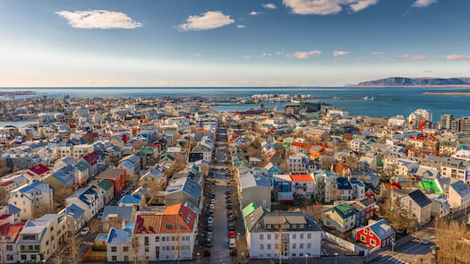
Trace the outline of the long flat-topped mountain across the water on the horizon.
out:
[[[465,86],[470,85],[470,78],[405,78],[389,77],[376,81],[362,81],[355,86]]]

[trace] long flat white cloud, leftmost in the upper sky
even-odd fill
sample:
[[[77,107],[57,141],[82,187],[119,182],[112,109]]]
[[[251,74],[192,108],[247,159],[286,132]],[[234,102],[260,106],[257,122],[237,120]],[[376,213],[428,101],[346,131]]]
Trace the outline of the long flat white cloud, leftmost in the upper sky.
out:
[[[56,14],[64,17],[77,29],[135,29],[142,26],[125,13],[107,10],[59,11]]]

